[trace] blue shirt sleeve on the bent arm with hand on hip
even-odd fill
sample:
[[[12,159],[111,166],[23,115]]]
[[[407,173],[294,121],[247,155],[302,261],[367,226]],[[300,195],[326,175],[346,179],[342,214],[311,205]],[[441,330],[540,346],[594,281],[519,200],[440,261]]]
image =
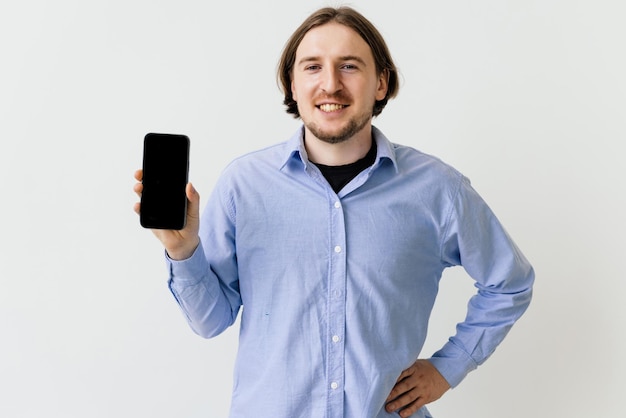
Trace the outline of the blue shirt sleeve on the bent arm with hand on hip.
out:
[[[451,204],[442,259],[463,266],[477,288],[456,334],[430,359],[454,387],[494,352],[525,312],[534,270],[463,177]]]

